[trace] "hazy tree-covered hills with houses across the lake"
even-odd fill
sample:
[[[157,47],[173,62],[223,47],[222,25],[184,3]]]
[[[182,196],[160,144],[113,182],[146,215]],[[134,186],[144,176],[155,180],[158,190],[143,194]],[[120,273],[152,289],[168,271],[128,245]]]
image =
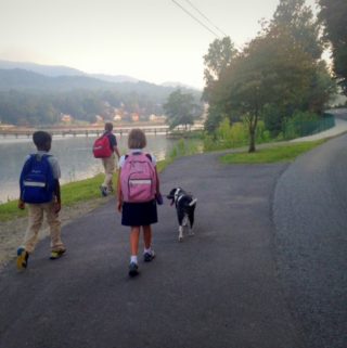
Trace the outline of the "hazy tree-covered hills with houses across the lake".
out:
[[[61,123],[62,115],[94,123],[95,115],[113,120],[119,114],[131,120],[136,113],[146,120],[163,115],[163,104],[174,87],[144,81],[104,82],[89,77],[52,78],[21,69],[0,69],[0,121],[16,126]],[[201,91],[187,90],[196,101]]]

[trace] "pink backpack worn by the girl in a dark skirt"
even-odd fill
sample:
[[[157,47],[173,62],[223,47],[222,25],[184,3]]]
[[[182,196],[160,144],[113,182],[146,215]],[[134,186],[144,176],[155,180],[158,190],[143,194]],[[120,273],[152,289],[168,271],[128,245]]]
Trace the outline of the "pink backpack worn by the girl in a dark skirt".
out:
[[[131,154],[120,171],[123,199],[130,203],[142,203],[154,199],[156,192],[155,168],[146,154]]]

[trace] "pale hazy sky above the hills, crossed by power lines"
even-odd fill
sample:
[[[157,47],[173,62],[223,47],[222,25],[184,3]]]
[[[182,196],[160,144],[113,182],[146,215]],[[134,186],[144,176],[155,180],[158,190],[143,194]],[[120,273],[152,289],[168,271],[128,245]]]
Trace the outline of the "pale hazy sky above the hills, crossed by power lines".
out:
[[[237,47],[256,36],[259,20],[271,18],[279,3],[175,1],[221,35],[191,2]],[[1,60],[202,88],[203,55],[215,38],[174,0],[0,0]]]

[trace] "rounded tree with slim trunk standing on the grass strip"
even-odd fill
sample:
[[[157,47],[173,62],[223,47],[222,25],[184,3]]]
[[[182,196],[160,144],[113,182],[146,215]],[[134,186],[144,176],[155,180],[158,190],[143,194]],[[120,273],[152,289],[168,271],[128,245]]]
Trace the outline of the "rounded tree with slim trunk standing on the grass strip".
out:
[[[294,44],[293,37],[262,35],[252,40],[220,78],[213,102],[244,117],[249,131],[249,152],[256,151],[256,129],[267,105],[286,109],[300,105],[310,87],[313,62]]]

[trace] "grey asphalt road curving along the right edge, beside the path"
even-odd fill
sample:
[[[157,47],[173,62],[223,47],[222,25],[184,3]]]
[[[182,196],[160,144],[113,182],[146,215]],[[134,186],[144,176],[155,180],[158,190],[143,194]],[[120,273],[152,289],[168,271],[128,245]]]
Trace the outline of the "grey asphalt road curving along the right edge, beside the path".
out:
[[[314,348],[347,347],[347,136],[300,156],[273,203],[286,298]]]

